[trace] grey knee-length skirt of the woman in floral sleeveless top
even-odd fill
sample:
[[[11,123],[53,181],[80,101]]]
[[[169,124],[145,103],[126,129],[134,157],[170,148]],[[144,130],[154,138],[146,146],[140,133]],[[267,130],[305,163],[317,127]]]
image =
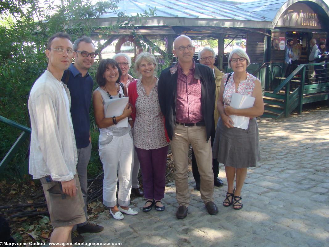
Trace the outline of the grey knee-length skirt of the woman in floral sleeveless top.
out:
[[[250,119],[248,129],[227,128],[218,119],[213,144],[213,158],[224,166],[256,167],[261,159],[256,118]]]

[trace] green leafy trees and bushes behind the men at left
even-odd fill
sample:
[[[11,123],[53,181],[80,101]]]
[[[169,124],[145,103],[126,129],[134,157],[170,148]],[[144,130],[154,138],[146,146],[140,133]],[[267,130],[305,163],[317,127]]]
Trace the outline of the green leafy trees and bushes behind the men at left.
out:
[[[127,17],[117,10],[118,0],[62,0],[60,5],[54,5],[52,0],[43,2],[34,0],[7,0],[0,2],[0,115],[17,123],[30,126],[27,101],[33,83],[47,68],[44,55],[47,39],[56,32],[67,32],[72,40],[83,35],[91,35],[99,27],[97,18],[104,13],[112,12],[119,16],[117,23],[100,29],[102,34],[110,35],[111,30],[126,27],[134,30],[134,16]],[[153,10],[139,14],[139,18],[149,16]],[[94,78],[95,66],[89,73]],[[91,121],[94,126],[93,110]],[[0,123],[0,159],[9,151],[20,135],[19,130]],[[95,128],[91,127],[93,156],[91,163],[99,168],[98,136]],[[29,143],[23,145],[6,171],[5,176],[24,179],[27,172],[27,161],[24,157]],[[23,167],[20,167],[23,166]]]

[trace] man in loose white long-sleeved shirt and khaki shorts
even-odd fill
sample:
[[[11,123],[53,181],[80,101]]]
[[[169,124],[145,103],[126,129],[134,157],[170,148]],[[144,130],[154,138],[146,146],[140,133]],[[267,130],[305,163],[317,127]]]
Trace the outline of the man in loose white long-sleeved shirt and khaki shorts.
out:
[[[50,37],[47,70],[33,85],[28,101],[31,119],[29,173],[40,179],[51,224],[50,242],[71,242],[75,224],[86,221],[78,175],[77,149],[70,114],[70,93],[61,81],[73,57],[66,33]]]

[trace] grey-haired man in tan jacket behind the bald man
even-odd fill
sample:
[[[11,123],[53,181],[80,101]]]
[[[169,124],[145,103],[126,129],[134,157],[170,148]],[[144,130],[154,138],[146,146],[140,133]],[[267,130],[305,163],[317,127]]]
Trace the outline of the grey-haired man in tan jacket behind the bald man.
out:
[[[208,66],[210,69],[213,70],[213,74],[215,76],[215,83],[216,83],[216,98],[215,98],[215,110],[214,110],[214,126],[211,132],[211,145],[213,146],[213,141],[215,138],[215,127],[217,125],[217,121],[219,118],[219,113],[217,111],[217,99],[218,99],[218,94],[219,94],[219,89],[220,89],[220,81],[222,79],[222,76],[224,73],[217,69],[214,66],[215,63],[215,51],[212,48],[209,47],[204,47],[202,50],[199,50],[198,53],[198,58],[200,61],[200,64]],[[218,173],[219,173],[219,168],[218,168],[218,161],[217,159],[213,159],[213,172],[214,172],[214,185],[217,187],[223,186],[223,181],[218,178]],[[196,164],[196,159],[194,155],[194,151],[192,150],[192,173],[193,173],[193,178],[195,180],[195,188],[197,190],[200,190],[200,173],[198,171],[198,166]]]

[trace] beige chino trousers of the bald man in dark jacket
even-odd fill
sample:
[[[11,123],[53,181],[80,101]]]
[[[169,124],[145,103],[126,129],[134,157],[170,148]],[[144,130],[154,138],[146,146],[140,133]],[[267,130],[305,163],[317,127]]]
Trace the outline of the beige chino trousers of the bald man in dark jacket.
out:
[[[171,151],[175,164],[176,199],[179,206],[189,206],[190,191],[188,184],[188,154],[192,145],[198,171],[200,173],[200,193],[204,203],[214,201],[213,155],[210,139],[206,141],[205,126],[184,127],[175,124]]]

